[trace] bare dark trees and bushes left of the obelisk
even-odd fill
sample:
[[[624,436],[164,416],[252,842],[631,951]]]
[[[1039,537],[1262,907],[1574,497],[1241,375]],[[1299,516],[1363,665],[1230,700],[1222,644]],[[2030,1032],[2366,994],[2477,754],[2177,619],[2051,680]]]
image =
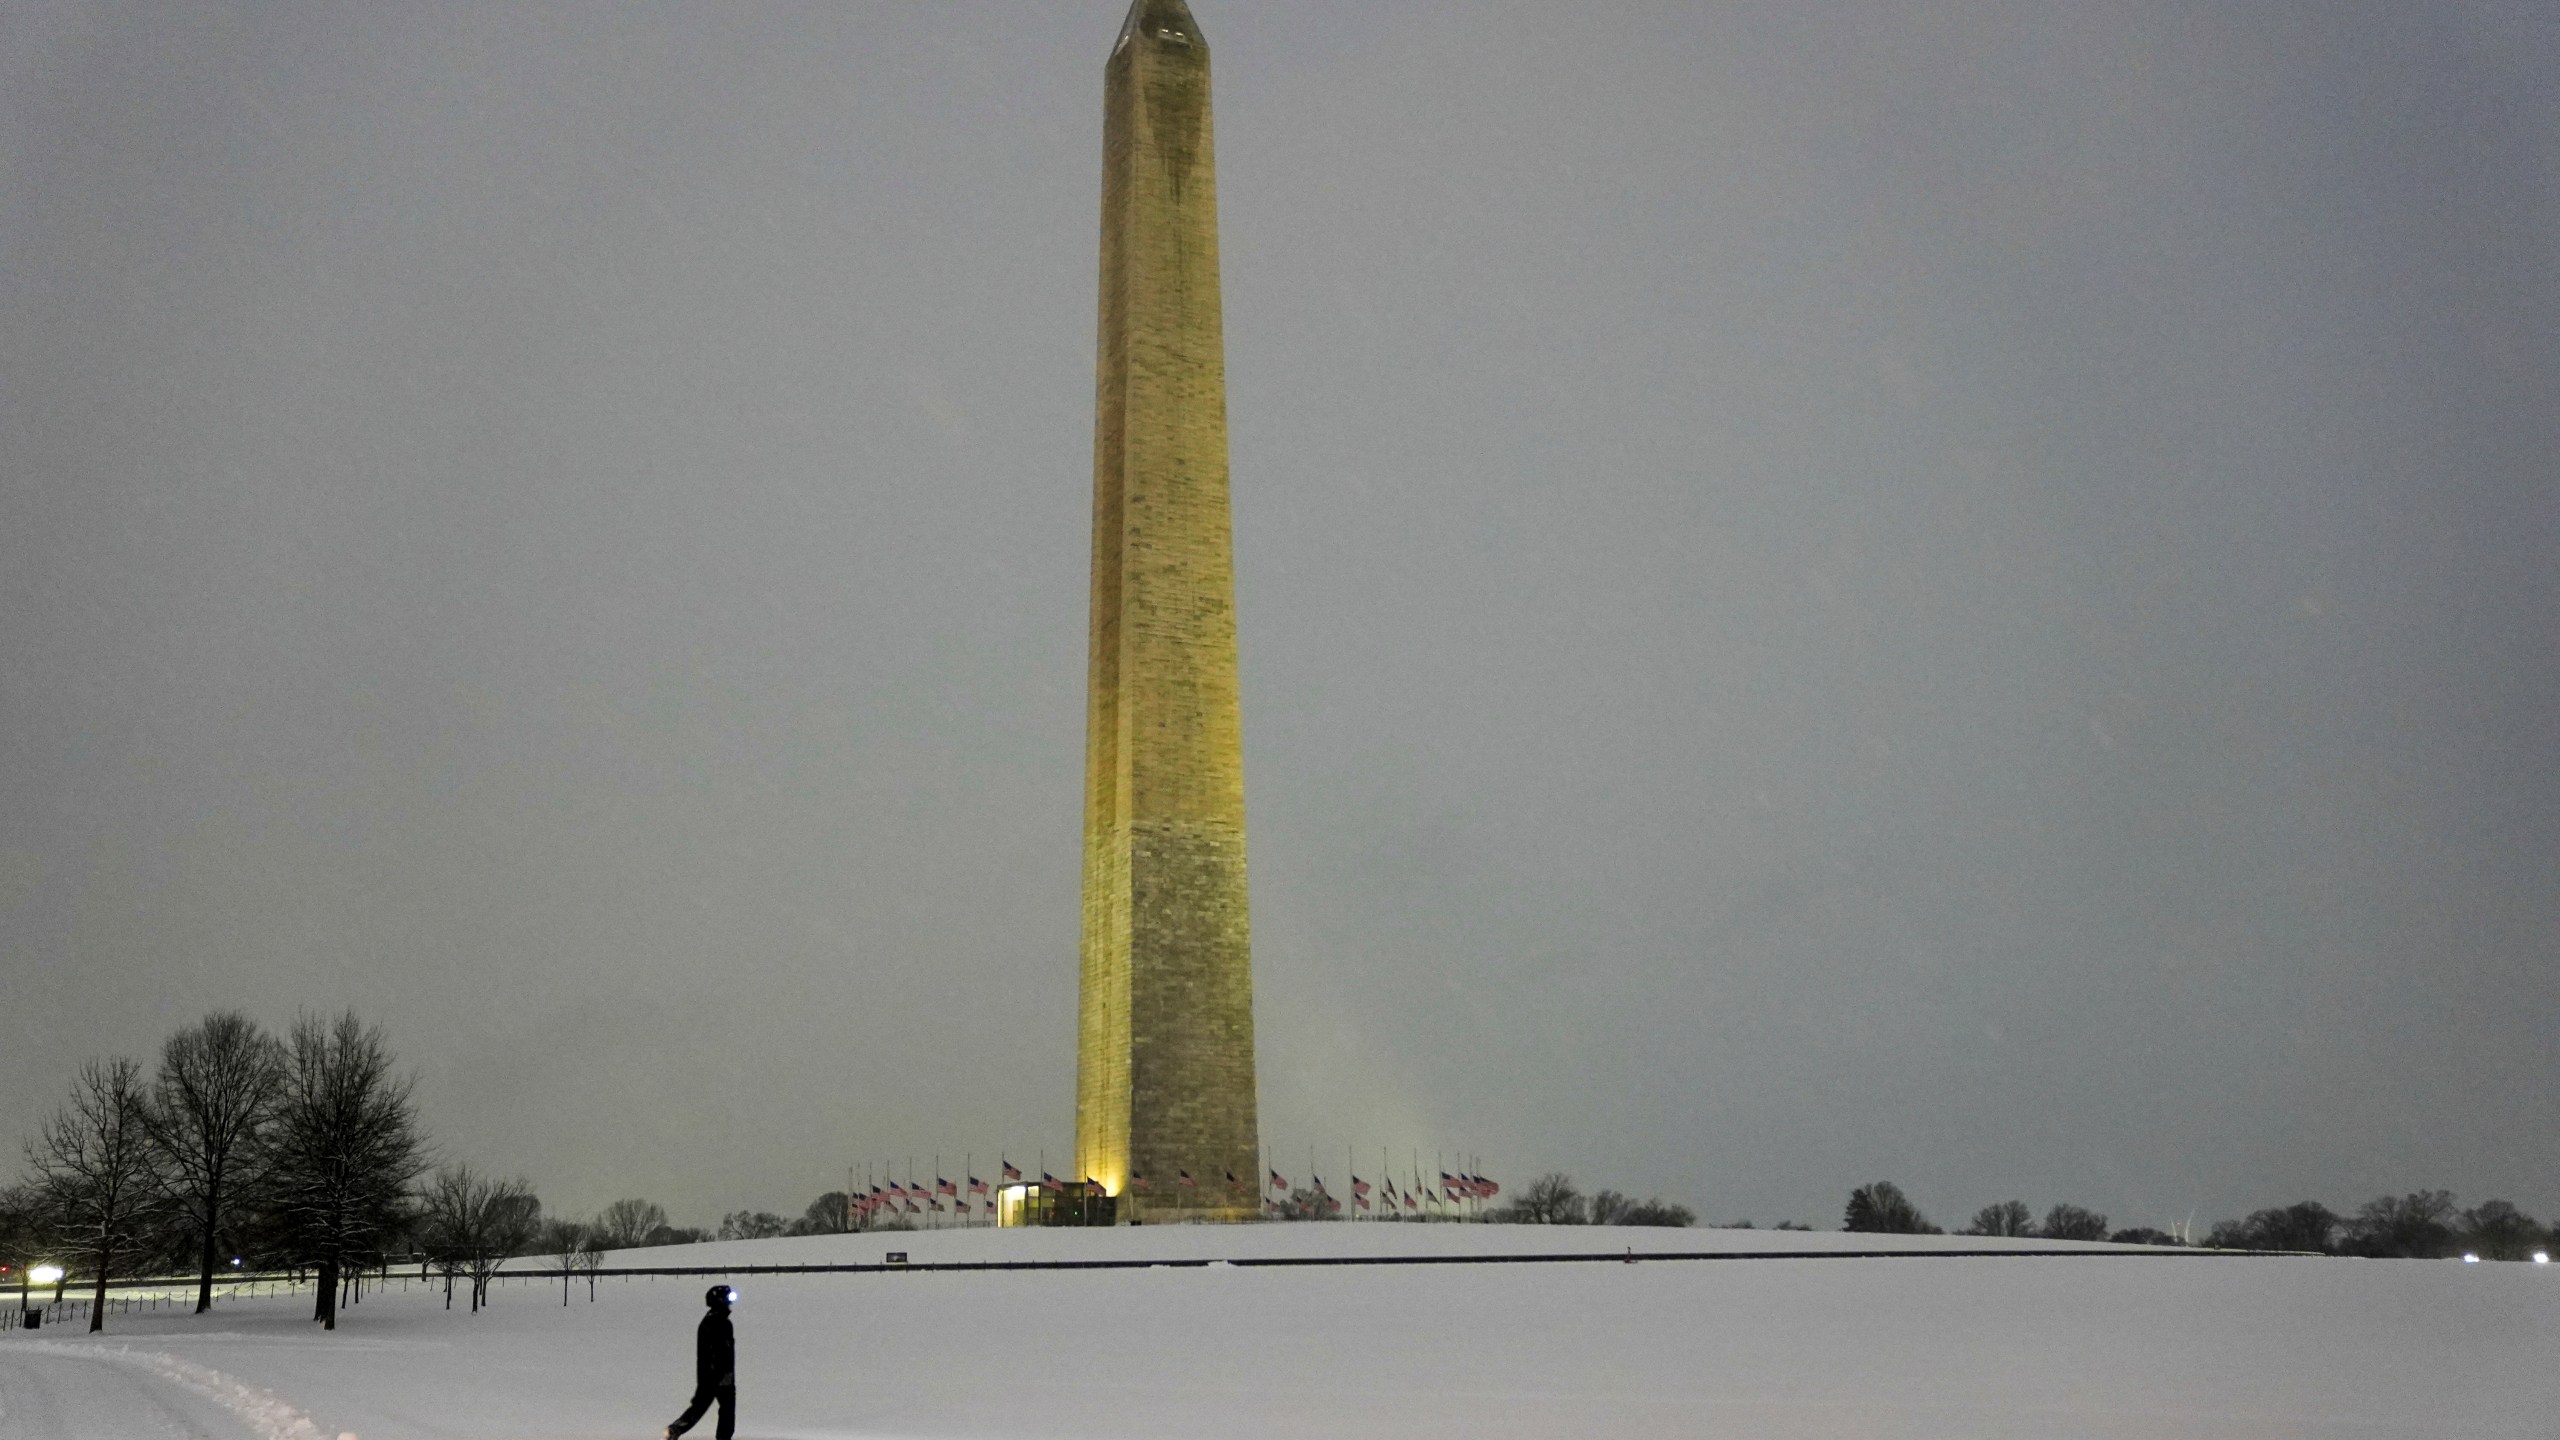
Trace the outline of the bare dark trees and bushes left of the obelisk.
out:
[[[440,1273],[445,1304],[466,1286],[476,1312],[517,1256],[556,1256],[563,1299],[573,1271],[604,1250],[806,1235],[845,1227],[845,1194],[799,1220],[732,1212],[719,1230],[671,1225],[645,1199],[594,1220],[550,1217],[532,1186],[438,1166],[379,1025],[356,1012],[302,1015],[282,1038],[238,1012],[169,1035],[159,1066],[79,1066],[69,1099],[26,1140],[26,1176],[0,1186],[0,1263],[23,1284],[36,1261],[90,1286],[90,1330],[105,1327],[110,1279],[192,1273],[197,1314],[236,1271],[312,1273],[312,1320],[364,1299],[364,1276],[417,1263]]]

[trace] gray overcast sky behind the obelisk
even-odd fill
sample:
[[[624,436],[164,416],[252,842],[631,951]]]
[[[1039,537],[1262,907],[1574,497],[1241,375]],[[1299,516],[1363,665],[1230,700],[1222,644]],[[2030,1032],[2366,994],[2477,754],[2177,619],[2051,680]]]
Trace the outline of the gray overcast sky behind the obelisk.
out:
[[[1196,10],[1285,1171],[2560,1209],[2560,13]],[[0,1135],[1062,1168],[1119,20],[0,5]]]

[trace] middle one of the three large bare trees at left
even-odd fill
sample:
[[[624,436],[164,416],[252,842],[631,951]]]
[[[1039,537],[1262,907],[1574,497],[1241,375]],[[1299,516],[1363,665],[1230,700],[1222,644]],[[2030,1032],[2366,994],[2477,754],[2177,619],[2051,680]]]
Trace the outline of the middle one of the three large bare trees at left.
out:
[[[169,1166],[172,1197],[195,1227],[195,1312],[212,1309],[223,1207],[284,1092],[284,1045],[256,1020],[223,1010],[161,1045],[159,1084],[143,1112]]]

